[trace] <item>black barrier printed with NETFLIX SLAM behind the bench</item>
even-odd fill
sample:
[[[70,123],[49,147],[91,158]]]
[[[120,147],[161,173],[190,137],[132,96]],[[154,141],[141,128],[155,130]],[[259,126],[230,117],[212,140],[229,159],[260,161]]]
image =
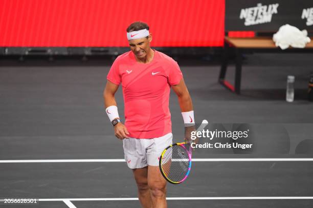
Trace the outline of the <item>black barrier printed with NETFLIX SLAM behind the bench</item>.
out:
[[[313,1],[226,0],[226,31],[276,32],[284,24],[313,32]]]

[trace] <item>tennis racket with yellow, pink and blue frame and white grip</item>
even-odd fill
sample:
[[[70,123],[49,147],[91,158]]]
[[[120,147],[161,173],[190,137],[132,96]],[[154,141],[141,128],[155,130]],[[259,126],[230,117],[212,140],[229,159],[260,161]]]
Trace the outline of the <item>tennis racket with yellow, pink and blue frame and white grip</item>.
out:
[[[203,120],[197,131],[208,125]],[[191,169],[192,147],[189,142],[175,143],[166,147],[160,157],[159,167],[163,177],[171,184],[180,184],[188,177]]]

